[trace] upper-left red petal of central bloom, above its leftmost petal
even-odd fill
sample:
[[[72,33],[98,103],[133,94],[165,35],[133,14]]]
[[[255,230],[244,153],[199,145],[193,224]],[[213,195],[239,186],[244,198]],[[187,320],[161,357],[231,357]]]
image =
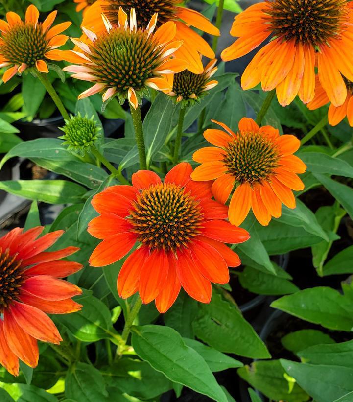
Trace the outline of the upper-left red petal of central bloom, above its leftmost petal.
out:
[[[122,195],[113,194],[109,190],[95,194],[91,201],[97,213],[114,213],[122,218],[129,215],[131,203],[132,200]]]

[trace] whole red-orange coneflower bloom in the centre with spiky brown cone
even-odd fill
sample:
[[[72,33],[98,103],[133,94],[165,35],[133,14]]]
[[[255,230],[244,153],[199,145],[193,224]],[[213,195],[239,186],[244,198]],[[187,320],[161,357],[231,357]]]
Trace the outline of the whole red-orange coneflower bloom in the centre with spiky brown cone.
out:
[[[103,241],[90,257],[92,266],[105,266],[123,258],[118,293],[127,298],[137,291],[143,303],[155,300],[165,312],[181,286],[194,299],[209,303],[211,282],[229,281],[228,266],[239,257],[224,243],[241,243],[250,236],[225,219],[228,208],[212,200],[211,182],[190,179],[192,167],[173,167],[162,183],[159,176],[140,170],[133,186],[108,187],[94,196],[100,214],[88,227]]]

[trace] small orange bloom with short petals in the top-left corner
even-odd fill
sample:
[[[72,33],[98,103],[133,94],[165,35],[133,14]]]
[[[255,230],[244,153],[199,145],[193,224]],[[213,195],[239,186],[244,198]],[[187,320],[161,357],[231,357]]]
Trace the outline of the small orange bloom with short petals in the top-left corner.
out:
[[[30,5],[24,22],[12,11],[6,14],[6,21],[0,20],[0,67],[8,67],[2,80],[7,82],[25,69],[48,72],[45,59],[63,60],[65,52],[57,48],[65,45],[68,36],[61,35],[71,22],[53,24],[57,11],[51,12],[43,23],[38,22],[39,11]]]

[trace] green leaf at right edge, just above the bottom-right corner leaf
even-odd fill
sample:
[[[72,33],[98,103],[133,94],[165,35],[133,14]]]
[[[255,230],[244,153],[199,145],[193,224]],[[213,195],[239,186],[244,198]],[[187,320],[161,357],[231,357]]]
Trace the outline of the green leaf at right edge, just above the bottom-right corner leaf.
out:
[[[327,345],[312,345],[301,350],[298,356],[306,363],[344,366],[353,369],[353,340]]]

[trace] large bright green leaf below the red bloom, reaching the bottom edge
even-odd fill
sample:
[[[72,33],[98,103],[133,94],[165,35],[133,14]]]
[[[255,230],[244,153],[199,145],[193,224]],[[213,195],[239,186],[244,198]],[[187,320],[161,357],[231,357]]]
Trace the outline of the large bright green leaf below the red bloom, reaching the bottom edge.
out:
[[[227,402],[205,360],[186,346],[177,331],[159,325],[133,327],[132,331],[135,352],[155,370],[217,402]]]

